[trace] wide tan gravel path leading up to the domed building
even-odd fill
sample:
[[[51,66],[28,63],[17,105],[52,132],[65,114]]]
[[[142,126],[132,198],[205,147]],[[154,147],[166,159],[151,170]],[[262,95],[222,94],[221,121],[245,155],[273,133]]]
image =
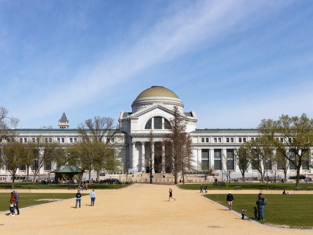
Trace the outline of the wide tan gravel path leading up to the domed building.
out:
[[[116,190],[95,190],[94,207],[89,206],[90,197],[84,196],[80,209],[75,209],[75,199],[70,199],[22,209],[20,216],[2,213],[0,234],[313,235],[312,230],[282,230],[242,220],[236,213],[201,197],[198,191],[170,187],[176,201],[168,202],[167,185],[135,184]],[[69,191],[74,197],[76,190],[64,190]]]

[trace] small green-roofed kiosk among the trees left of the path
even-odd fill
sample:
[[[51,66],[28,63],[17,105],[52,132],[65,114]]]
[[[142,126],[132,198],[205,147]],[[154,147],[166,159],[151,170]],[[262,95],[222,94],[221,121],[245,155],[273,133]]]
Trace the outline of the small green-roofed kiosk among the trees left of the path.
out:
[[[83,170],[77,165],[61,165],[51,171],[51,173],[55,173],[54,180],[56,182],[62,183],[63,181],[66,181],[68,183],[77,183],[74,182],[74,176],[83,173]]]

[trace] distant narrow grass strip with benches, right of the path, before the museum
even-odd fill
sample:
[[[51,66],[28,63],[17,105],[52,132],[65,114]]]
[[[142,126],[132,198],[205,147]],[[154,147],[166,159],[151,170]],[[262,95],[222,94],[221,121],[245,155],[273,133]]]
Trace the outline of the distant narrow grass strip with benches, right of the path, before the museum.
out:
[[[254,190],[263,190],[265,193],[267,186],[266,184],[252,184],[252,183],[229,183],[228,188],[221,187],[221,186],[213,186],[213,183],[205,184],[202,183],[203,191],[204,186],[207,185],[208,190],[235,190],[235,186],[241,186],[242,190],[245,189],[254,189]],[[303,190],[307,190],[308,186],[313,186],[312,184],[300,184],[300,186],[303,188]],[[187,185],[181,185],[179,188],[183,189],[191,189],[191,190],[200,190],[200,184],[187,184]],[[268,183],[268,190],[283,190],[291,191],[295,190],[295,184],[274,184],[274,183]]]

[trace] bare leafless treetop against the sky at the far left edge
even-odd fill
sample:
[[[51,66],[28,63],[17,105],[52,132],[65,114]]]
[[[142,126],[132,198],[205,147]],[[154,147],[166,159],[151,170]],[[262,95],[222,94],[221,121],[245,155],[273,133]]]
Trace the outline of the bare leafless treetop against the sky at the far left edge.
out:
[[[17,127],[20,120],[18,118],[9,117],[9,111],[1,106],[0,108],[0,142],[2,140],[10,141],[16,136],[14,128]]]

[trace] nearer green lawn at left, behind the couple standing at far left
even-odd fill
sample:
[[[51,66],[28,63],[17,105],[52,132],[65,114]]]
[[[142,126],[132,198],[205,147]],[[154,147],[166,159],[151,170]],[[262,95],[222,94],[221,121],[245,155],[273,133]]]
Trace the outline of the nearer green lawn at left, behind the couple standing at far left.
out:
[[[45,204],[51,202],[51,200],[43,200],[37,201],[40,199],[68,199],[74,198],[76,191],[73,193],[19,193],[20,194],[20,202],[19,208],[30,207],[34,205]],[[10,207],[10,193],[0,193],[0,211],[9,211]],[[82,196],[89,195],[86,193],[82,193]],[[73,199],[73,205],[75,203],[75,199]]]

